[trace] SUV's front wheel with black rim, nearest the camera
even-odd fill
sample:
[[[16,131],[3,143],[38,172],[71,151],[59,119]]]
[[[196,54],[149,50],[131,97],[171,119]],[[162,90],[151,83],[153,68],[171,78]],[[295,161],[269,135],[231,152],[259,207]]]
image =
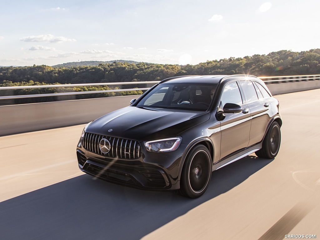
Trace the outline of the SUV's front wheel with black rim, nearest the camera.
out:
[[[197,145],[183,165],[180,178],[180,194],[197,198],[207,190],[212,172],[212,160],[208,148]]]

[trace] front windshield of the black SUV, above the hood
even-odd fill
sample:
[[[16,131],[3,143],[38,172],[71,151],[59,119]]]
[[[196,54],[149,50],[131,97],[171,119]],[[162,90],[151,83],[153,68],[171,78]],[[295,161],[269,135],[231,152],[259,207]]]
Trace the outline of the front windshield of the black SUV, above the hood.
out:
[[[213,98],[216,84],[164,83],[149,92],[137,107],[205,111]]]

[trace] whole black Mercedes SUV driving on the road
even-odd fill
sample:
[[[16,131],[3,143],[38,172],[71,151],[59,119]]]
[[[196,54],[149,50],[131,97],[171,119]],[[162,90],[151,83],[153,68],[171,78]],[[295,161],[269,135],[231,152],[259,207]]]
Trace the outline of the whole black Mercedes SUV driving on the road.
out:
[[[81,171],[141,189],[204,194],[211,173],[244,156],[274,158],[279,102],[248,75],[167,78],[131,105],[87,124]]]

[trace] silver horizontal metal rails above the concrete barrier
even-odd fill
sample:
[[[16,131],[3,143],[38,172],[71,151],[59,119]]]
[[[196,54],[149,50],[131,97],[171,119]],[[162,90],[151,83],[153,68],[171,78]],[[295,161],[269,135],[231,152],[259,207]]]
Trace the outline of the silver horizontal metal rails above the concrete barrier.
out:
[[[259,77],[266,84],[278,84],[289,82],[302,82],[302,81],[316,81],[320,79],[320,75],[297,75],[297,76],[265,76]],[[133,84],[156,84],[159,81],[147,82],[120,82],[120,83],[91,83],[91,84],[54,84],[54,85],[36,85],[36,86],[9,86],[0,87],[0,90],[14,90],[14,89],[34,89],[34,88],[61,88],[61,87],[77,87],[77,86],[110,86],[110,85],[133,85]],[[92,94],[92,93],[105,93],[105,92],[126,92],[126,91],[144,91],[147,88],[128,88],[128,89],[111,89],[101,91],[85,91],[85,92],[58,92],[47,94],[28,94],[28,95],[15,95],[15,96],[0,96],[0,100],[19,99],[19,98],[35,98],[35,97],[51,97],[63,95],[79,95],[79,94]]]

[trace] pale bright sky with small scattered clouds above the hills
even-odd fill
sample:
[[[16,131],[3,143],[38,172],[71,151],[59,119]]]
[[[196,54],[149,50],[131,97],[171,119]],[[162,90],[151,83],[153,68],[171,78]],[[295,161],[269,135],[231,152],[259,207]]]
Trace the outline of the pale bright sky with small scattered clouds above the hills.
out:
[[[207,60],[320,48],[320,1],[3,1],[0,66]]]

